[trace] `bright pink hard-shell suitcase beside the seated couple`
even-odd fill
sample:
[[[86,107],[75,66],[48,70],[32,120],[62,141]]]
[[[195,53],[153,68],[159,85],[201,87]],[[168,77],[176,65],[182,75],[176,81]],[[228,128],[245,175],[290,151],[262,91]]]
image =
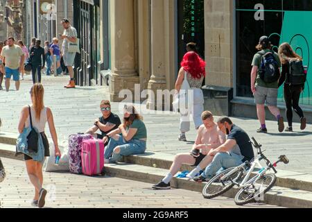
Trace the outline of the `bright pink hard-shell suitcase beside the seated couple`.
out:
[[[87,176],[101,175],[104,167],[104,143],[102,139],[83,141],[81,162],[83,174]]]

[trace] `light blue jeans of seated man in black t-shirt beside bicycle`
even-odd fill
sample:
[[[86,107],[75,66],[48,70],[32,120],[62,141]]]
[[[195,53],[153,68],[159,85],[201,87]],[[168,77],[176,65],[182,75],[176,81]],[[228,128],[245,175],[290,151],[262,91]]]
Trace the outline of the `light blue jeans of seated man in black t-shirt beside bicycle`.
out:
[[[218,153],[215,155],[214,160],[209,164],[202,176],[204,178],[212,178],[217,172],[220,173],[221,169],[228,169],[230,167],[238,167],[243,164],[242,155],[237,155],[235,153]]]

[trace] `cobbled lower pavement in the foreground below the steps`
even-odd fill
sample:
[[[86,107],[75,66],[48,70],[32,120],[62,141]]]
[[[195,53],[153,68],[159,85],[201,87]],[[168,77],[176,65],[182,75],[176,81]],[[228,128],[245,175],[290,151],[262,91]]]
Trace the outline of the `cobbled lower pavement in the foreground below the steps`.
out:
[[[29,182],[24,162],[2,158],[8,176],[0,184],[1,207],[31,207],[33,186]],[[70,173],[44,173],[48,190],[46,207],[74,208],[220,208],[238,207],[231,198],[206,200],[195,191],[171,189],[155,191],[144,182],[108,177],[87,177]],[[275,207],[251,204],[250,207]]]

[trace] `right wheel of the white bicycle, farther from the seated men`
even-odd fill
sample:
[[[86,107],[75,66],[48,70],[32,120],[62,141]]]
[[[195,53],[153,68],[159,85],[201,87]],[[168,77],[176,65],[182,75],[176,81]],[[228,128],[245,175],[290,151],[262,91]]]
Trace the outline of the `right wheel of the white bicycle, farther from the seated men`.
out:
[[[263,200],[263,194],[266,194],[275,185],[276,180],[275,174],[272,173],[261,176],[252,185],[242,188],[236,194],[234,198],[236,205],[245,205]]]

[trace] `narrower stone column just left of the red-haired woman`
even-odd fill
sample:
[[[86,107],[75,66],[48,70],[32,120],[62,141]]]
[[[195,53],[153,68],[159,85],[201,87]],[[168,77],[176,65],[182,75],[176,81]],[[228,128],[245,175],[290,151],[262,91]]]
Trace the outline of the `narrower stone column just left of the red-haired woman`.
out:
[[[168,64],[166,62],[166,49],[164,45],[164,42],[166,42],[164,1],[168,0],[152,0],[152,76],[148,82],[148,89],[153,90],[155,93],[155,101],[150,98],[148,99],[147,108],[150,110],[157,108],[157,89],[166,89],[166,67]]]

